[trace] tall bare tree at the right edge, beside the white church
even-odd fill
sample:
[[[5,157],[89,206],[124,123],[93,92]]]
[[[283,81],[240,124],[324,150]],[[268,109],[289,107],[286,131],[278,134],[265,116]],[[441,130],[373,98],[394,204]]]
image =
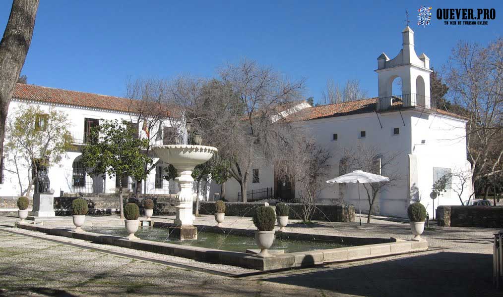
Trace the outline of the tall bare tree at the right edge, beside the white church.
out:
[[[477,181],[503,172],[503,38],[487,47],[459,42],[447,69],[451,102],[469,118],[466,146],[475,189]]]

